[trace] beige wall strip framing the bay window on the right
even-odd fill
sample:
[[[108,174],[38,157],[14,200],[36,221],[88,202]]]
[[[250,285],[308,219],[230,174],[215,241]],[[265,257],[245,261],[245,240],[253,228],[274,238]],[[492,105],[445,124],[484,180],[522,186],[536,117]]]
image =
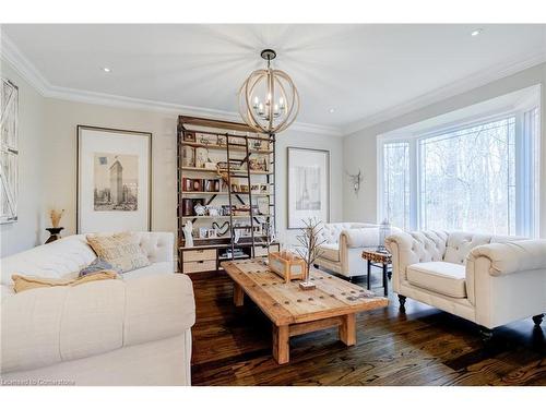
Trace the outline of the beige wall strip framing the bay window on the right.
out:
[[[378,135],[535,84],[542,84],[541,237],[546,238],[546,63],[345,136],[344,167],[351,172],[360,168],[365,179],[356,196],[348,178],[343,178],[343,218],[348,221],[377,221]]]

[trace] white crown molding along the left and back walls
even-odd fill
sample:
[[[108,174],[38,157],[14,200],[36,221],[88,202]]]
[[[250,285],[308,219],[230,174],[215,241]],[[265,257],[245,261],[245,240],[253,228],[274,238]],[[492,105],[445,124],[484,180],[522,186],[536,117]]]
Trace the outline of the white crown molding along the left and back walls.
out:
[[[83,104],[102,105],[107,107],[141,109],[163,112],[167,115],[207,117],[226,121],[240,121],[237,112],[193,107],[179,104],[162,103],[157,100],[140,99],[120,95],[95,93],[84,89],[68,88],[49,83],[38,69],[19,50],[15,44],[0,31],[0,56],[23,77],[31,86],[46,98],[71,100]],[[294,122],[293,131],[310,132],[330,136],[343,136],[341,129],[306,122]]]

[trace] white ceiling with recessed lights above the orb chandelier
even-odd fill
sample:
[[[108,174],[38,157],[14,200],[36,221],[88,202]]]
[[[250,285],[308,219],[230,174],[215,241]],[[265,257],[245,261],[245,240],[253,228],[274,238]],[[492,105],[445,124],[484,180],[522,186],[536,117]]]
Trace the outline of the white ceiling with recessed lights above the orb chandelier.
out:
[[[484,29],[473,37],[476,27]],[[245,77],[263,65],[260,50],[271,47],[274,64],[301,94],[298,121],[339,130],[546,56],[546,25],[26,24],[2,31],[58,89],[227,112],[237,110]]]

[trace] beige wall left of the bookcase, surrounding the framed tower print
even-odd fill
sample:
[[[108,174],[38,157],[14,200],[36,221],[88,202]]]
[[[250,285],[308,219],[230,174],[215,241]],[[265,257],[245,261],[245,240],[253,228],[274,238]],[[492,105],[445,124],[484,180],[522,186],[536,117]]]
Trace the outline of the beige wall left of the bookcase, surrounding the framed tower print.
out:
[[[58,159],[44,175],[44,202],[66,209],[66,233],[75,232],[79,124],[152,133],[152,229],[176,231],[175,115],[49,98],[45,111],[46,154]]]

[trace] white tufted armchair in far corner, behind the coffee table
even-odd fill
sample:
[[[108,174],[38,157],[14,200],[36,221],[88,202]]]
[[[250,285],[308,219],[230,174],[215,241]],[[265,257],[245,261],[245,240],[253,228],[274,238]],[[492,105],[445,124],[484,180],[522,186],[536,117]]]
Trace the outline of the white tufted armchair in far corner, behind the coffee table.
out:
[[[316,265],[349,278],[366,275],[363,250],[379,245],[379,225],[329,222],[321,227],[319,240],[324,244],[320,246],[322,254]],[[401,230],[393,227],[391,231]]]

